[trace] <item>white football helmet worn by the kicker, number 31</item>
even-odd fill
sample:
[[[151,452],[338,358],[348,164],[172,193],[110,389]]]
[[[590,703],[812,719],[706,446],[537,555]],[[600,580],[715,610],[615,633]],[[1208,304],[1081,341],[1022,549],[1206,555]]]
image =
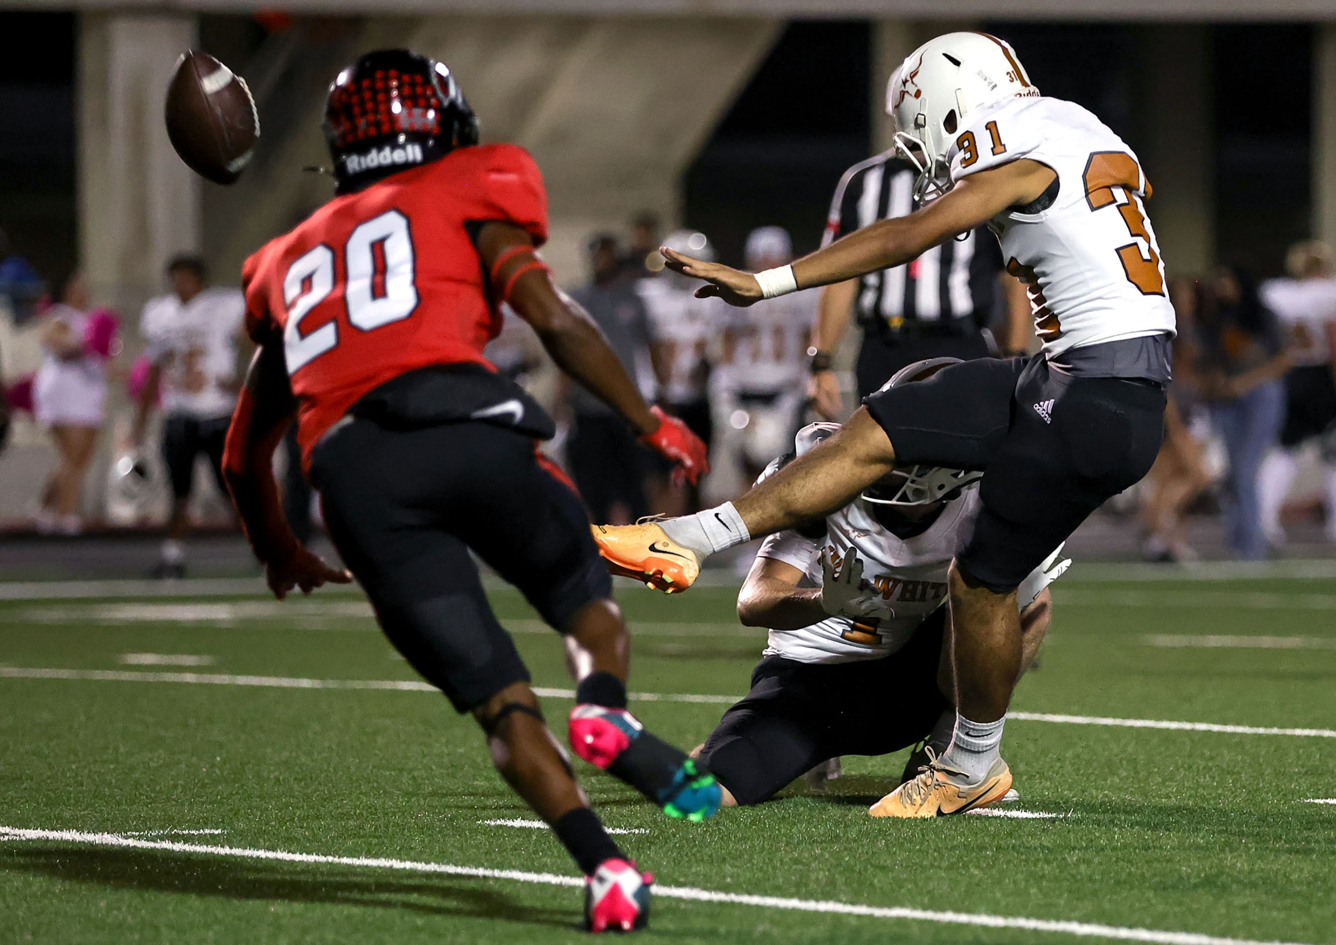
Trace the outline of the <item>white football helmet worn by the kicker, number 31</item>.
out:
[[[1038,95],[1015,51],[997,36],[946,33],[911,52],[887,83],[886,113],[895,123],[895,148],[918,168],[914,198],[949,190],[946,152],[967,116],[1003,99]]]

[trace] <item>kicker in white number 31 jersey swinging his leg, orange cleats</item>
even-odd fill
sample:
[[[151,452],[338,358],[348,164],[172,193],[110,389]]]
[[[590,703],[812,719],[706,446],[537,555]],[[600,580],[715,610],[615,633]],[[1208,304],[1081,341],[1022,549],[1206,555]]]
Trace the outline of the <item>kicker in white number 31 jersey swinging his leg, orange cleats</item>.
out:
[[[1019,675],[1017,587],[1160,450],[1174,311],[1136,155],[1089,111],[1042,97],[1010,45],[938,36],[891,83],[895,139],[921,168],[922,210],[749,274],[665,251],[735,306],[899,266],[981,224],[1026,283],[1043,350],[981,358],[878,391],[826,443],[736,503],[599,530],[619,574],[689,587],[704,558],[842,509],[895,468],[985,472],[974,530],[950,571],[957,726],[927,770],[882,801],[895,817],[959,813],[1005,796],[1002,730]]]

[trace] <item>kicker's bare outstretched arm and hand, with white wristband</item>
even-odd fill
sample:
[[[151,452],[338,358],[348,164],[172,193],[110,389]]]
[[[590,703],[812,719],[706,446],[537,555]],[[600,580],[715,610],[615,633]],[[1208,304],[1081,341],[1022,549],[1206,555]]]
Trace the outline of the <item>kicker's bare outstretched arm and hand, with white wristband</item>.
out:
[[[1055,176],[1046,164],[1029,159],[971,174],[908,216],[879,220],[803,256],[792,266],[794,284],[783,288],[796,291],[830,286],[907,263],[926,250],[987,223],[1007,207],[1037,200]],[[749,306],[768,298],[751,272],[705,263],[668,248],[660,252],[669,268],[708,283],[696,290],[701,298],[717,295],[731,306]],[[778,294],[783,292],[771,292]]]

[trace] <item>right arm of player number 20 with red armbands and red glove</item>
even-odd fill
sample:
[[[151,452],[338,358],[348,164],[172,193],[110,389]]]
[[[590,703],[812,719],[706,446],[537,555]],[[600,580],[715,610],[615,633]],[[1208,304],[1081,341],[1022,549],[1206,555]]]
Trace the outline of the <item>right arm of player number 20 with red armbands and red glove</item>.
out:
[[[533,327],[557,367],[621,414],[643,443],[677,462],[692,483],[709,471],[705,444],[679,420],[645,403],[599,326],[552,283],[525,230],[485,223],[477,247],[500,300]]]

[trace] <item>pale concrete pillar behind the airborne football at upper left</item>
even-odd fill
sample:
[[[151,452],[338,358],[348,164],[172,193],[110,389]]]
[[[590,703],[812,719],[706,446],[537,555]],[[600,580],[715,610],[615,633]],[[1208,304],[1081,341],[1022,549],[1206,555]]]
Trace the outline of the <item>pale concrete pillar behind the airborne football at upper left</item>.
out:
[[[163,125],[163,89],[194,16],[84,13],[79,28],[80,258],[98,302],[138,311],[163,267],[199,248],[200,180]]]

